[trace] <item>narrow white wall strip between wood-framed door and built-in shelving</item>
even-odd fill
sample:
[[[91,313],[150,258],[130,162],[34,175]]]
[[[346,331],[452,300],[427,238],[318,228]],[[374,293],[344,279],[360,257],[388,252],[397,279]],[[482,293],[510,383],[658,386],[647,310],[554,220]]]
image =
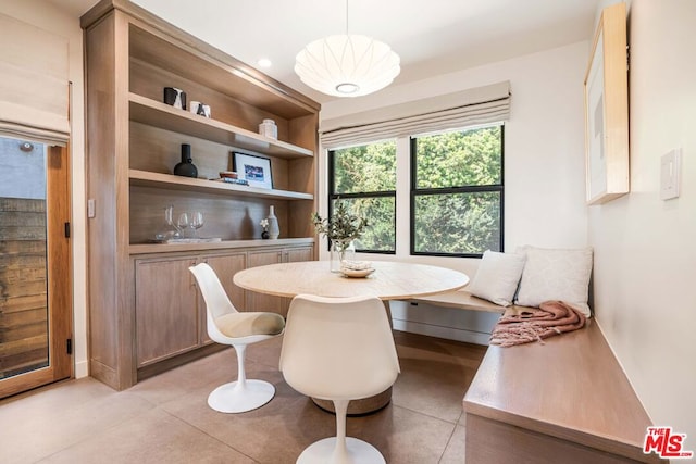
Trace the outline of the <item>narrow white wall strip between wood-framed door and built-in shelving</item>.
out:
[[[85,118],[83,78],[83,30],[79,18],[60,11],[42,0],[0,0],[0,11],[25,23],[66,37],[70,47],[69,78],[71,93],[71,162],[72,162],[72,248],[73,248],[73,308],[74,361],[76,377],[87,371],[87,312],[86,312],[86,250],[85,250]]]

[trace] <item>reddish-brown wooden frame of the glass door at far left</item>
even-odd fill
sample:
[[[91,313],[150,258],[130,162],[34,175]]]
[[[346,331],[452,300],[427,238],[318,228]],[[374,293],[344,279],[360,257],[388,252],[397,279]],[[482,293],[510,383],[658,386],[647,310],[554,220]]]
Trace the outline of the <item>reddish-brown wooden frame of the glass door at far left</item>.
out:
[[[47,147],[46,155],[49,365],[2,379],[0,398],[74,376],[73,354],[69,354],[67,347],[73,337],[73,266],[67,234],[71,218],[69,146]]]

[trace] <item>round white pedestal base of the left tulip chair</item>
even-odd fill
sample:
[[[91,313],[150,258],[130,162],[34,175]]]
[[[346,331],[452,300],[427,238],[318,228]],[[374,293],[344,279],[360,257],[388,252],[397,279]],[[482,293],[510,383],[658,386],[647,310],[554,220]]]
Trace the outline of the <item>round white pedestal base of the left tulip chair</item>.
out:
[[[246,413],[261,407],[275,396],[275,387],[263,380],[246,380],[243,388],[236,381],[221,385],[208,396],[208,405],[221,413]]]

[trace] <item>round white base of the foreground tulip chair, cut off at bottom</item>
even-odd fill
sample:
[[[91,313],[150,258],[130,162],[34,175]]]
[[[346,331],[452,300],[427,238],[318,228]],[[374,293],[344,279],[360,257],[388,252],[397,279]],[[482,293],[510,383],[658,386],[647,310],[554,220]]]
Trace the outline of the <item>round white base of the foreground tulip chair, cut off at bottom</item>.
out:
[[[336,452],[336,455],[333,455]],[[346,452],[336,450],[336,437],[319,440],[302,451],[297,464],[383,464],[382,453],[366,441],[346,437]]]

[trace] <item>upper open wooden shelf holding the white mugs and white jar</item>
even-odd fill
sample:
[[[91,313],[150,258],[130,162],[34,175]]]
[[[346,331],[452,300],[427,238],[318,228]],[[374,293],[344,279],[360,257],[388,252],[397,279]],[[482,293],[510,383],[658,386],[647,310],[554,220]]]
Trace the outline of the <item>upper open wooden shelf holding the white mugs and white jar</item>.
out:
[[[130,121],[277,158],[297,159],[314,155],[306,148],[199,116],[137,93],[130,92],[128,98]]]

